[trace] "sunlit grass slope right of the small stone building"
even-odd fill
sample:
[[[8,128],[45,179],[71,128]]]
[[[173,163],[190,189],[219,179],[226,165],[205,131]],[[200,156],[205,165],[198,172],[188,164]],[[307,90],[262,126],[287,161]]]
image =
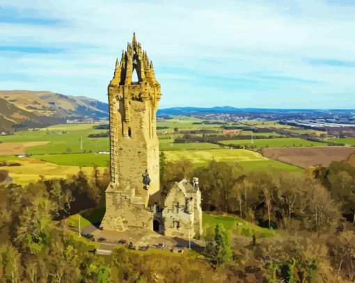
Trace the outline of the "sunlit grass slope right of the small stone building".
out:
[[[242,236],[253,236],[257,238],[265,238],[269,236],[274,236],[276,232],[267,228],[259,227],[253,223],[248,223],[237,216],[221,216],[212,215],[203,212],[202,215],[203,229],[206,231],[209,227],[214,229],[216,224],[223,224],[231,235],[242,235]],[[237,225],[237,223],[242,223],[242,225]]]

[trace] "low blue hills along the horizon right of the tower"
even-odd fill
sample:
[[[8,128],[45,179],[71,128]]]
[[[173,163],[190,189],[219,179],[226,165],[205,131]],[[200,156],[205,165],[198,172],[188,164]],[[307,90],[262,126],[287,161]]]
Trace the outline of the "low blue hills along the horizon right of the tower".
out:
[[[278,109],[278,108],[235,108],[232,106],[203,107],[173,107],[159,109],[157,115],[191,115],[191,114],[221,114],[221,113],[354,113],[354,110],[342,109]]]

